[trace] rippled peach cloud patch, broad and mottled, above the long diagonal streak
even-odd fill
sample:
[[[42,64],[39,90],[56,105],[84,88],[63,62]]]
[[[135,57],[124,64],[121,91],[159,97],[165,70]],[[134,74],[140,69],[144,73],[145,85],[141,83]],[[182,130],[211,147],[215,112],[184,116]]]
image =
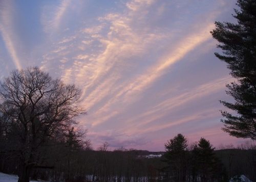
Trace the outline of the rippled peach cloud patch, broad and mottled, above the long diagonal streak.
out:
[[[146,1],[145,3],[147,4]],[[141,3],[142,7],[143,5]],[[76,83],[84,84],[84,77],[87,78],[87,83],[83,87],[84,94],[89,94],[84,98],[84,102],[88,103],[87,108],[93,107],[108,95],[108,91],[102,90],[102,87],[106,83],[116,84],[118,82],[118,75],[121,75],[119,69],[124,69],[125,65],[130,64],[125,61],[131,59],[132,56],[144,54],[146,46],[151,45],[152,42],[163,37],[161,34],[157,35],[150,32],[138,33],[138,31],[133,30],[133,27],[131,27],[132,21],[136,18],[133,16],[130,12],[124,13],[124,15],[107,14],[104,17],[98,18],[99,25],[93,25],[79,32],[83,37],[90,38],[83,38],[84,40],[81,40],[80,45],[77,45],[78,48],[87,52],[86,47],[89,44],[90,46],[96,44],[95,46],[100,47],[100,50],[98,50],[98,54],[96,50],[96,53],[94,51],[93,54],[89,51],[89,53],[87,52],[86,54],[79,54],[73,57],[74,64],[64,71],[62,79],[65,81],[76,80]],[[102,35],[103,29],[107,32]],[[77,39],[80,38],[81,36],[78,36]],[[65,46],[58,46],[54,50],[55,53],[61,47]],[[82,62],[79,60],[82,60]],[[76,63],[80,63],[79,66]],[[120,67],[122,65],[124,67]],[[69,74],[71,69],[75,74]],[[100,95],[97,94],[99,92]],[[98,97],[95,97],[96,94]]]

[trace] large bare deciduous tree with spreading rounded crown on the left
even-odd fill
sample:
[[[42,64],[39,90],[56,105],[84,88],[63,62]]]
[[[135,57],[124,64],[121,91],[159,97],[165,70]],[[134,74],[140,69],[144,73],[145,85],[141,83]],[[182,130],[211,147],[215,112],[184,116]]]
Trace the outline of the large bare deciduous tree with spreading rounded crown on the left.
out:
[[[14,70],[0,84],[0,113],[6,137],[19,157],[18,182],[28,182],[41,162],[40,150],[75,124],[83,113],[77,106],[81,91],[52,79],[38,67]]]

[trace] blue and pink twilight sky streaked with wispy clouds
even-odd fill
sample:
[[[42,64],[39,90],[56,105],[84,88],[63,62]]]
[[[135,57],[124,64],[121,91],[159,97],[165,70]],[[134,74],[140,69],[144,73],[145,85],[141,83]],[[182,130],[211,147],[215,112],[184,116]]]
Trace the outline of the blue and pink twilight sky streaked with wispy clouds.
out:
[[[221,130],[219,100],[234,81],[214,53],[215,21],[231,21],[234,0],[0,1],[0,79],[38,66],[82,90],[76,118],[94,149],[108,142],[163,151],[189,143],[245,141]]]

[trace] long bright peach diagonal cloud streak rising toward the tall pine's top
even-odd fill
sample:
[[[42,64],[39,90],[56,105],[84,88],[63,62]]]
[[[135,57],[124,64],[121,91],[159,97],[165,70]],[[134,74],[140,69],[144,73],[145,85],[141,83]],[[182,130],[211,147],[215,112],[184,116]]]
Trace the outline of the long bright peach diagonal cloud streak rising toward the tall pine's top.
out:
[[[106,113],[109,113],[111,105],[114,105],[115,102],[119,102],[120,100],[122,100],[126,105],[128,102],[133,101],[133,98],[135,98],[138,93],[153,84],[160,76],[163,75],[167,68],[176,62],[181,61],[189,51],[208,40],[210,38],[209,31],[213,27],[214,25],[212,23],[207,24],[206,28],[203,28],[201,31],[197,30],[197,33],[191,33],[180,42],[177,42],[178,45],[173,48],[174,50],[170,51],[170,54],[160,58],[156,64],[153,64],[145,71],[145,73],[137,76],[134,80],[131,80],[129,83],[124,83],[115,93],[115,96],[113,96],[108,102],[106,102],[105,106],[96,112],[96,115],[98,114],[98,117],[100,117],[101,114],[105,115]],[[93,125],[100,124],[104,121],[105,120],[103,119],[99,119],[98,122],[94,122]]]

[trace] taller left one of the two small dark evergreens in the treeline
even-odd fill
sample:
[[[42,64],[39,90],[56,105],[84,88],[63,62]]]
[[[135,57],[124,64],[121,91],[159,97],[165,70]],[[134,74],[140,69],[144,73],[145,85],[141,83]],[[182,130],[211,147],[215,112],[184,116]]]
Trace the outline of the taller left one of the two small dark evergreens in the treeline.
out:
[[[164,162],[167,163],[167,180],[185,181],[186,179],[186,147],[187,140],[182,134],[164,144]]]

